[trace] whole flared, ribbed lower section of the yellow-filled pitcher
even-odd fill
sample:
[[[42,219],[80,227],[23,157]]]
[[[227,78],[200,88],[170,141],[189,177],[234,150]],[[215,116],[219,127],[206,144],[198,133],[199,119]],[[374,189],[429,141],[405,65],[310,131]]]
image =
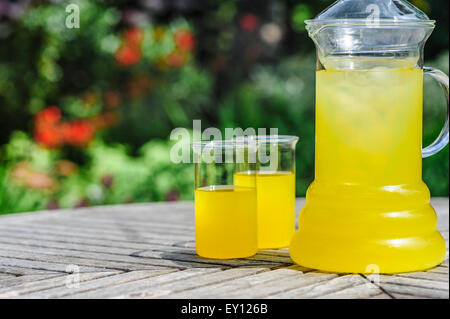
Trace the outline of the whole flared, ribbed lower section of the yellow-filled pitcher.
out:
[[[314,182],[289,247],[297,264],[339,273],[425,270],[445,241],[423,182],[391,186]]]

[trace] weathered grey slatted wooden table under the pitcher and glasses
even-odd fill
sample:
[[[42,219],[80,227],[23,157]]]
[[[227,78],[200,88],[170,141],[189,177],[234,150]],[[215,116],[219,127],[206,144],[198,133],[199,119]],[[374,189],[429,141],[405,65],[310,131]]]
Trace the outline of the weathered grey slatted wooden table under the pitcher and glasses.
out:
[[[432,204],[448,247],[448,198]],[[448,281],[448,250],[429,271],[376,278],[296,266],[287,249],[202,259],[192,202],[0,216],[1,298],[449,298]]]

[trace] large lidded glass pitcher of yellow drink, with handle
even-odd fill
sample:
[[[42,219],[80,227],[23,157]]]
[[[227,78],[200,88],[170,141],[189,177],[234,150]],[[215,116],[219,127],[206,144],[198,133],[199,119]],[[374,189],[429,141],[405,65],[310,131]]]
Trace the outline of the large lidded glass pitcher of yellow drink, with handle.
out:
[[[315,179],[292,259],[332,272],[407,272],[438,265],[422,157],[448,144],[448,113],[422,149],[423,66],[434,21],[402,0],[340,0],[306,21],[317,48]]]

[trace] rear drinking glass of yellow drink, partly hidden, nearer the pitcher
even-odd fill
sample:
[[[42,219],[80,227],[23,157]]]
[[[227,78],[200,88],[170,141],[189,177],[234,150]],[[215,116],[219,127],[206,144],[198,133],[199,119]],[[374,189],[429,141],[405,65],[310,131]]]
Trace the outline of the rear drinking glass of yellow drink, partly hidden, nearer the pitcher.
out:
[[[257,170],[239,172],[235,185],[252,183],[256,175],[258,248],[288,247],[295,232],[295,145],[297,136],[259,135],[237,141],[256,142]]]

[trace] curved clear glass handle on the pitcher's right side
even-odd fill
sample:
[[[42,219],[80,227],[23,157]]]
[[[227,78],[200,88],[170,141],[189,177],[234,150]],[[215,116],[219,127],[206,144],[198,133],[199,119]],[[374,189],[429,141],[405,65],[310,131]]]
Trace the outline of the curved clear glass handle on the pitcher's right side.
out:
[[[445,97],[447,98],[447,119],[445,120],[444,127],[442,128],[439,136],[434,140],[433,143],[422,149],[422,157],[429,157],[431,155],[436,154],[441,149],[443,149],[448,144],[448,113],[449,113],[449,105],[448,105],[448,76],[444,72],[430,67],[423,68],[424,74],[428,74],[433,79],[439,82],[439,84],[444,89]]]

